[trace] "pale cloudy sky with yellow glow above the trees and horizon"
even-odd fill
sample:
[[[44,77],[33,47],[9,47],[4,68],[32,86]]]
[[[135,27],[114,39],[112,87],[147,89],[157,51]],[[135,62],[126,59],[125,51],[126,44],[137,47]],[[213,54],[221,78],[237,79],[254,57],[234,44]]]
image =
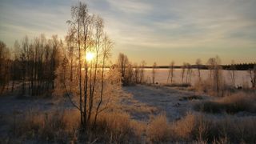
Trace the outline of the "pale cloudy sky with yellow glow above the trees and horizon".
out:
[[[70,7],[78,0],[0,0],[0,40],[14,46],[25,35],[64,38]],[[119,53],[147,65],[256,62],[255,0],[86,0],[100,15]]]

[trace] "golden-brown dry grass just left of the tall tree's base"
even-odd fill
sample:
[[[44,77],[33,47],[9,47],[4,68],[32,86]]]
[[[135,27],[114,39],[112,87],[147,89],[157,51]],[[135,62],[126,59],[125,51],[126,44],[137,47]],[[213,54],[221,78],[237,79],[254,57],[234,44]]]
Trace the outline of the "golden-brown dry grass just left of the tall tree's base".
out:
[[[72,115],[72,116],[70,116]],[[11,130],[15,137],[46,142],[76,141],[79,114],[76,110],[38,113],[30,111],[21,115]]]

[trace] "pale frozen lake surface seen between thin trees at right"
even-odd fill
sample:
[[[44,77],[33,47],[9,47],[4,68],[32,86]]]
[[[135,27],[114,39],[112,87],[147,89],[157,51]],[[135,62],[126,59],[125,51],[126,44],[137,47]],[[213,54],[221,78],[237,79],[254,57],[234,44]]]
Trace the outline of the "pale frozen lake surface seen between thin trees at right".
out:
[[[182,69],[174,69],[174,82],[182,82]],[[156,69],[155,82],[166,83],[169,69]],[[210,70],[201,70],[202,79],[208,78]],[[226,84],[231,85],[230,71],[222,70],[223,78]],[[186,75],[185,75],[186,76]],[[145,69],[145,78],[151,80],[152,69]],[[198,70],[193,69],[192,71],[192,85],[198,81]],[[250,74],[246,70],[235,70],[235,85],[236,86],[251,86]]]

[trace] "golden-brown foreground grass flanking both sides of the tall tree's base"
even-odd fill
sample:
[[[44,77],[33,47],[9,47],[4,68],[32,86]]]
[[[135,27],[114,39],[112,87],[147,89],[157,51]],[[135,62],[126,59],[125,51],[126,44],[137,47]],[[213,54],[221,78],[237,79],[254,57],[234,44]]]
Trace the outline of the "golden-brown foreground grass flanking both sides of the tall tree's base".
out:
[[[145,124],[133,121],[129,114],[120,112],[99,114],[95,129],[86,132],[80,131],[78,110],[43,114],[31,110],[15,118],[11,121],[10,138],[0,138],[4,143],[140,142],[146,130]]]

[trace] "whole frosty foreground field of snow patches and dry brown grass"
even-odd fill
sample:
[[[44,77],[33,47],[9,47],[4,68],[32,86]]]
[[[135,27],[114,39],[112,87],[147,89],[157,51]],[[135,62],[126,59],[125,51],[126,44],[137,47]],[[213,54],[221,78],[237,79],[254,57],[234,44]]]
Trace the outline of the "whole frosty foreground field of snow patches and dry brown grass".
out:
[[[110,143],[205,143],[207,141],[215,141],[220,143],[255,142],[255,91],[254,93],[249,94],[250,101],[246,101],[246,99],[249,97],[247,98],[247,95],[244,92],[237,93],[237,95],[234,97],[230,96],[227,98],[216,98],[207,94],[199,94],[191,90],[181,90],[178,87],[174,88],[168,86],[124,86],[120,90],[115,90],[114,94],[116,94],[118,97],[113,98],[110,109],[106,110],[105,113],[102,113],[101,118],[98,120],[98,122],[101,122],[103,120],[102,118],[106,118],[104,121],[108,122],[108,126],[111,126],[112,128],[104,126],[104,129],[110,129],[111,133],[108,132],[103,137],[101,135],[102,131],[98,130],[96,135],[91,137],[89,141],[96,140],[96,143],[102,141]],[[225,109],[217,105],[218,103],[221,104],[222,102],[235,102],[237,101],[236,99],[238,99],[239,102],[244,101],[247,103],[242,103],[242,107],[240,107],[240,109],[234,108],[236,111],[232,114],[222,111]],[[203,104],[207,102],[209,103],[207,104],[208,107],[214,107],[207,108],[206,106],[203,106]],[[210,102],[215,102],[216,105],[210,105]],[[76,142],[79,139],[79,136],[72,131],[72,129],[77,126],[74,125],[74,123],[77,123],[78,121],[78,111],[70,104],[70,101],[67,98],[17,98],[14,95],[7,95],[0,98],[0,103],[0,135],[2,142],[39,141],[42,143],[66,143]],[[245,106],[248,106],[249,104],[251,104],[250,108],[246,108]],[[237,105],[240,106],[239,103]],[[244,107],[245,109],[243,109]],[[211,113],[209,111],[210,109],[216,111]],[[230,109],[232,109],[232,107]],[[54,115],[52,114],[57,114],[56,118],[60,117],[60,119],[55,119],[55,117],[53,117]],[[38,134],[41,134],[41,136],[38,137],[36,135],[30,135],[31,130],[37,131],[37,129],[27,127],[30,126],[30,124],[28,125],[24,122],[31,121],[36,122],[33,124],[35,126],[47,126],[48,120],[44,120],[46,116],[49,118],[54,118],[50,120],[50,122],[68,122],[66,124],[68,124],[68,126],[72,125],[73,128],[70,130],[69,127],[64,126],[63,128],[65,128],[67,131],[58,136],[54,133],[45,131],[48,129],[47,127],[40,128],[39,126],[39,130],[42,129],[42,131],[38,131]],[[30,120],[30,118],[33,119]],[[37,124],[37,122],[39,123]],[[114,125],[113,122],[121,123],[120,125]],[[229,122],[230,124],[225,128],[224,125],[226,122]],[[238,127],[235,126],[235,123]],[[24,125],[25,127],[20,127],[19,125]],[[98,123],[98,125],[102,124]],[[128,127],[124,127],[126,125]],[[200,126],[202,127],[202,130],[200,129]],[[63,128],[57,127],[55,129],[62,130]],[[222,128],[225,128],[226,132],[217,133],[217,131],[221,130]],[[119,129],[122,131],[115,131]],[[243,129],[243,131],[239,131],[241,129]],[[247,134],[249,131],[250,134]],[[16,135],[14,135],[14,133]],[[126,136],[120,137],[121,135],[119,134],[123,133],[127,133]],[[115,138],[112,138],[112,136],[109,134],[117,135]],[[234,136],[236,134],[238,135]],[[242,134],[247,135],[241,139],[243,137]],[[48,137],[50,139],[47,140]]]

